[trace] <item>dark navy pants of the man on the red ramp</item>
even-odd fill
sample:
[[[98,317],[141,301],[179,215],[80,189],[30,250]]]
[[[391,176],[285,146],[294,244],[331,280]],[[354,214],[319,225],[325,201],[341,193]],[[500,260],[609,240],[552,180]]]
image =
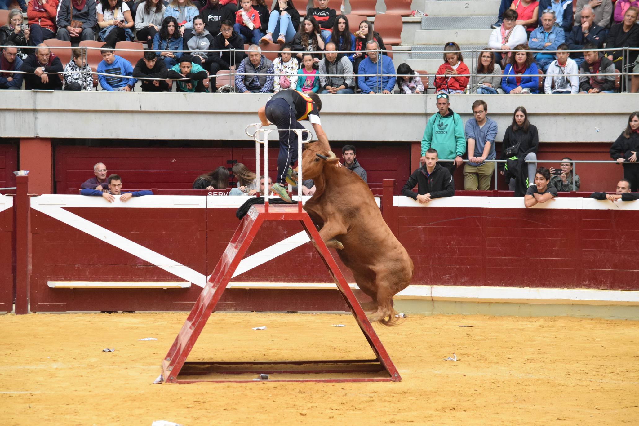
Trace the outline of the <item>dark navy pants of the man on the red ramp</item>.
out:
[[[277,98],[266,102],[266,118],[278,129],[304,128],[296,119],[295,111],[284,99]],[[297,133],[291,130],[279,130],[280,151],[277,155],[277,183],[286,182],[289,165],[293,167],[297,160]]]

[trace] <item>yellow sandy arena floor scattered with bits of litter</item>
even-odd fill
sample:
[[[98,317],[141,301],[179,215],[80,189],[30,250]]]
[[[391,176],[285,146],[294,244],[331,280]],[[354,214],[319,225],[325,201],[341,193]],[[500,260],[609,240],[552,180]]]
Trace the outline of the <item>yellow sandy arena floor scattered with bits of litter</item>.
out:
[[[639,424],[636,322],[413,316],[394,328],[375,326],[401,383],[152,384],[186,317],[0,316],[1,423]],[[346,326],[331,326],[338,323]],[[158,340],[137,340],[144,337]],[[452,353],[459,361],[444,361]],[[190,360],[371,354],[350,316],[217,313]]]

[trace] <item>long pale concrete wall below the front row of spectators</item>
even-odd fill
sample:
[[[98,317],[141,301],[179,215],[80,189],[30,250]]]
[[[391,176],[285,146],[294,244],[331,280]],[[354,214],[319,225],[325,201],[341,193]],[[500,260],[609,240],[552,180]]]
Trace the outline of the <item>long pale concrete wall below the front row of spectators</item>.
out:
[[[269,95],[2,91],[0,137],[248,140],[244,128]],[[453,95],[466,121],[477,95]],[[639,95],[484,95],[498,141],[524,105],[543,142],[611,142]],[[435,95],[322,96],[334,141],[420,141]],[[232,111],[232,112],[229,112]],[[599,130],[597,130],[599,129]],[[275,136],[274,136],[275,137]]]

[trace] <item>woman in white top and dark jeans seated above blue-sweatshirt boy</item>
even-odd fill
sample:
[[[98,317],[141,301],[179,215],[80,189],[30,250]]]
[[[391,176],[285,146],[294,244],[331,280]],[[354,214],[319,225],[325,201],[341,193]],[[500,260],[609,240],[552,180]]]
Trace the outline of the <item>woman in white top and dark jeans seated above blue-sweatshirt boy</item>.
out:
[[[110,46],[118,42],[133,40],[133,17],[128,4],[123,0],[100,0],[96,8],[98,26],[102,28],[98,37]]]

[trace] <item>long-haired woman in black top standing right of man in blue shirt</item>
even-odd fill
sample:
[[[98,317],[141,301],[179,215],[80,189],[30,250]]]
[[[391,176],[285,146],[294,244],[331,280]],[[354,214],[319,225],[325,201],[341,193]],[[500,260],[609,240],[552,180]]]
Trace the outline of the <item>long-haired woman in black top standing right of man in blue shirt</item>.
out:
[[[528,178],[526,186],[534,185],[536,163],[527,163],[525,166],[523,161],[536,161],[537,149],[539,149],[539,135],[537,127],[531,125],[528,121],[528,112],[524,107],[517,107],[512,115],[512,125],[506,129],[504,133],[504,141],[502,142],[501,160],[517,157],[520,160],[520,167],[527,167],[528,174],[523,174]],[[506,182],[511,191],[515,190],[515,179],[512,171],[504,173],[505,163],[499,164],[500,174],[506,176]],[[523,185],[521,185],[523,186]]]

